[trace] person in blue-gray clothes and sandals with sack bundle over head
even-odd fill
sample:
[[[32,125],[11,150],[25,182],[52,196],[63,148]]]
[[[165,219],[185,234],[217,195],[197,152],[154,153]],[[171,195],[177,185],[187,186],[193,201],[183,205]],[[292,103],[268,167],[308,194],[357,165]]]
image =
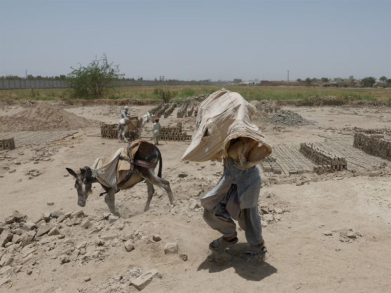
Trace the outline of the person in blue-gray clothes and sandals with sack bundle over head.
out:
[[[182,160],[223,161],[217,186],[201,198],[203,218],[222,236],[209,248],[223,250],[239,241],[234,220],[245,231],[250,247],[244,256],[266,252],[258,199],[261,176],[257,165],[271,153],[259,128],[252,124],[255,107],[238,93],[221,89],[198,108],[197,130]]]

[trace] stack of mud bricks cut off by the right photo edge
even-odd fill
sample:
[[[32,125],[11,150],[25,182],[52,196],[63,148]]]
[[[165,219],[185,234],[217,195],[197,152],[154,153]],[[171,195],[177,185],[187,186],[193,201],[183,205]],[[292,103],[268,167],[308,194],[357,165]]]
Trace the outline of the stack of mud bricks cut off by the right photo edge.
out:
[[[353,146],[367,154],[391,161],[391,140],[385,139],[382,134],[356,132]]]

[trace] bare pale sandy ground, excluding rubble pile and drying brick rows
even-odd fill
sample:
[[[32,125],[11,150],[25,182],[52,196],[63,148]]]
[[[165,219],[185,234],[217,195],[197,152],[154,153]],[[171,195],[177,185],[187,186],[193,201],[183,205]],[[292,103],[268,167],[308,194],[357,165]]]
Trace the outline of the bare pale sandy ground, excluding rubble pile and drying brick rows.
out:
[[[131,107],[140,116],[147,106]],[[349,135],[353,127],[382,128],[390,126],[390,109],[368,108],[286,108],[297,111],[315,125],[302,127],[259,126],[271,144],[322,142],[324,136]],[[15,107],[7,113],[17,112]],[[19,109],[21,110],[21,108]],[[85,118],[115,122],[119,107],[97,106],[68,108]],[[175,115],[175,112],[174,112]],[[174,115],[161,124],[173,124]],[[147,128],[151,129],[152,125]],[[190,129],[191,124],[185,125]],[[147,131],[143,134],[149,134]],[[77,195],[74,180],[64,177],[65,167],[90,166],[96,157],[113,153],[122,144],[97,136],[99,129],[86,129],[48,147],[50,161],[34,164],[28,157],[36,146],[17,148],[8,154],[16,159],[1,161],[14,173],[2,171],[0,178],[1,220],[13,210],[34,220],[46,211],[76,211]],[[276,182],[261,188],[260,206],[282,208],[281,220],[263,228],[268,252],[262,258],[244,258],[244,231],[239,230],[239,243],[226,253],[213,254],[208,244],[219,237],[202,219],[201,209],[189,209],[189,199],[199,200],[218,181],[220,163],[188,163],[180,161],[188,143],[159,146],[163,156],[163,176],[170,181],[177,207],[168,205],[168,197],[157,189],[151,209],[143,212],[147,196],[145,184],[116,194],[116,207],[121,219],[109,224],[101,219],[108,207],[99,196],[102,188],[95,185],[93,194],[83,208],[92,228],[64,228],[64,239],[43,236],[32,253],[33,260],[22,264],[11,281],[0,285],[1,292],[137,292],[129,286],[129,270],[139,267],[143,272],[156,268],[162,278],[155,278],[143,292],[391,292],[391,176],[352,176],[342,172],[339,177],[319,175],[317,182],[302,186],[293,175],[288,183]],[[23,151],[24,155],[18,152]],[[13,165],[15,161],[21,165]],[[36,168],[42,174],[29,180],[25,173]],[[179,178],[178,174],[188,176]],[[22,180],[20,180],[22,179]],[[336,180],[338,179],[338,180]],[[54,202],[54,206],[47,206]],[[100,230],[94,231],[94,228]],[[351,231],[349,231],[351,229]],[[329,231],[332,235],[325,235]],[[346,235],[356,233],[356,238]],[[66,251],[80,243],[96,249],[96,239],[106,241],[99,257],[84,260],[69,253],[71,261],[61,264]],[[159,234],[161,241],[151,241]],[[326,233],[328,234],[328,233]],[[132,235],[135,249],[127,252],[122,239]],[[361,235],[361,236],[360,236]],[[110,238],[110,237],[109,237]],[[345,240],[348,240],[346,242]],[[177,242],[178,253],[188,255],[183,261],[177,255],[164,254],[166,242]],[[53,244],[54,243],[54,244]],[[53,246],[50,250],[47,247]],[[83,249],[80,249],[83,250]],[[34,254],[35,253],[35,254]],[[18,252],[14,252],[15,259]],[[16,262],[16,261],[15,261]],[[32,270],[30,275],[26,272]],[[4,275],[0,275],[4,277]],[[90,281],[85,281],[90,277]]]

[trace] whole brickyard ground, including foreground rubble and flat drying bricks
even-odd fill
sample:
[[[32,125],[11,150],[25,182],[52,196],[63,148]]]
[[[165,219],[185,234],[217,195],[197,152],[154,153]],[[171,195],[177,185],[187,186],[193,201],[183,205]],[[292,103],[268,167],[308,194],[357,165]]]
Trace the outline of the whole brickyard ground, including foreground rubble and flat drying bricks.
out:
[[[130,113],[141,116],[151,108],[131,106]],[[99,105],[65,110],[109,124],[117,122],[120,109]],[[80,211],[74,180],[65,167],[90,166],[123,144],[102,139],[99,126],[15,133],[16,149],[0,154],[0,291],[138,292],[140,283],[130,282],[154,269],[143,292],[390,292],[391,162],[354,147],[353,141],[355,127],[386,129],[389,138],[391,109],[283,109],[311,123],[277,125],[274,116],[262,111],[256,118],[274,147],[274,159],[264,163],[259,202],[268,247],[264,258],[240,256],[246,247],[243,231],[239,243],[224,253],[209,251],[209,242],[219,235],[203,221],[198,202],[215,186],[222,166],[181,162],[188,142],[161,141],[159,146],[163,176],[178,205],[168,206],[165,192],[157,189],[151,209],[142,212],[147,187],[139,184],[116,194],[122,217],[115,221],[102,218],[108,207],[99,185]],[[0,115],[21,110],[3,106]],[[161,118],[162,126],[176,125],[177,110],[183,111],[177,107]],[[266,115],[268,123],[263,121]],[[194,119],[181,120],[191,134]],[[151,129],[148,124],[143,137],[150,137]],[[10,136],[0,133],[0,139]],[[316,174],[314,167],[322,164],[305,157],[301,143],[314,147],[312,156],[317,152],[344,158],[348,170]],[[25,224],[17,223],[24,221],[20,214],[8,217],[14,210],[28,216]],[[5,224],[6,217],[16,223]],[[172,242],[178,245],[177,254],[165,254],[165,245]]]

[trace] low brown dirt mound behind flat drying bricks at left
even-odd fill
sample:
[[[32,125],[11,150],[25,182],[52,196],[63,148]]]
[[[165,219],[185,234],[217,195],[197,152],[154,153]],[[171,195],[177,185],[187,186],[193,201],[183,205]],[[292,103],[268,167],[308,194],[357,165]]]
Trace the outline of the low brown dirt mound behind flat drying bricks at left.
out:
[[[50,105],[28,108],[12,116],[0,116],[0,132],[71,130],[98,123]]]

